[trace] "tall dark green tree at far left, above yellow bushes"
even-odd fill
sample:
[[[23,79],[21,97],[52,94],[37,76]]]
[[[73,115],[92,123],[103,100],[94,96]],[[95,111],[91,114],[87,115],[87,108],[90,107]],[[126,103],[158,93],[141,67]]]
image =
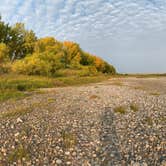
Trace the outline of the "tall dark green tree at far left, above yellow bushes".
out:
[[[14,26],[5,24],[0,16],[0,43],[5,43],[9,48],[12,61],[32,54],[37,40],[32,30],[26,30],[24,24],[16,23]]]

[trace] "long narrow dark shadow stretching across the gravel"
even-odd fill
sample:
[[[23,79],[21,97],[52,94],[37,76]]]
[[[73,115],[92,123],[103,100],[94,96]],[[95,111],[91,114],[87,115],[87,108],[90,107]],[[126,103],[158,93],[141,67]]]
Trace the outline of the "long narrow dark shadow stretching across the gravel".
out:
[[[101,118],[101,133],[100,141],[101,147],[101,165],[115,166],[121,165],[121,154],[119,151],[119,141],[114,124],[114,113],[111,108],[105,108]]]

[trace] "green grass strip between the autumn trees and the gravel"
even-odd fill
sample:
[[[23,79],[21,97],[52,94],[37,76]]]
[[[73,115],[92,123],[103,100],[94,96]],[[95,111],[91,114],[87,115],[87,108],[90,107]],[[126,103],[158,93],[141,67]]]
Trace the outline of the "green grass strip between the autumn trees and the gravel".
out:
[[[2,75],[0,76],[0,101],[18,99],[28,95],[40,88],[53,88],[62,86],[76,86],[107,80],[110,76],[86,76],[86,77],[41,77],[24,75]]]

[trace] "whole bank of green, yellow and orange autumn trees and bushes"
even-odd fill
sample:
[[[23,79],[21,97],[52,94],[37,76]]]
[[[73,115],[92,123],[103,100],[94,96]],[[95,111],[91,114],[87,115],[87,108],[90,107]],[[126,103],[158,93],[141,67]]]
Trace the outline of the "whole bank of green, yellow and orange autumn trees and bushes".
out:
[[[77,43],[53,37],[37,39],[24,24],[9,26],[0,18],[0,73],[81,77],[116,71],[101,58],[84,52]]]

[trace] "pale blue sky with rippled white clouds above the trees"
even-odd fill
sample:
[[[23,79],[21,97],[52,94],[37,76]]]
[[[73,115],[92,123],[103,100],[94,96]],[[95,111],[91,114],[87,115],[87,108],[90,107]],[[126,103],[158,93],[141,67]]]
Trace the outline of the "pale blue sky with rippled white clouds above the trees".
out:
[[[166,0],[0,0],[2,19],[78,42],[121,73],[166,73]]]

